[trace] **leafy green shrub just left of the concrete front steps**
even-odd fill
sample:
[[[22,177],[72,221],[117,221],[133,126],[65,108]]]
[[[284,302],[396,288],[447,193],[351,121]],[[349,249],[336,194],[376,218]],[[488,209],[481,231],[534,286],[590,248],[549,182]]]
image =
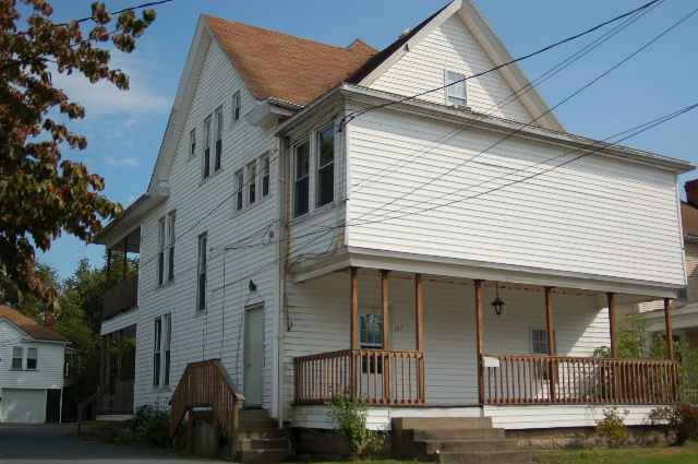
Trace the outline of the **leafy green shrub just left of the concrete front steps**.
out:
[[[366,429],[366,405],[360,400],[335,396],[329,415],[337,423],[337,431],[349,442],[351,457],[380,454],[385,443],[383,435]]]

